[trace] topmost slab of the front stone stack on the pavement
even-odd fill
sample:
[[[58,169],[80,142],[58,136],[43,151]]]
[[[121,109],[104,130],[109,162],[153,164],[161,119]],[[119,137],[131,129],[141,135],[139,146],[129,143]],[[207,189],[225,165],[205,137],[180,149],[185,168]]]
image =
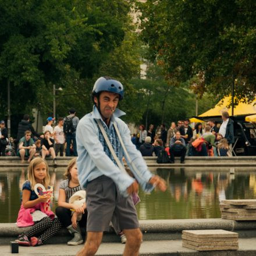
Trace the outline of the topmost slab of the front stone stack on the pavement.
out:
[[[238,237],[237,233],[223,229],[183,230],[182,234],[197,238]]]

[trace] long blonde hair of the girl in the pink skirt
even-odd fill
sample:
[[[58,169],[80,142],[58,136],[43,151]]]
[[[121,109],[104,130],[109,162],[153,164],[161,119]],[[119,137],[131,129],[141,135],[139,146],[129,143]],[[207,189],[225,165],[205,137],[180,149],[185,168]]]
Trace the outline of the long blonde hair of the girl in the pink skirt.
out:
[[[48,186],[49,186],[49,183],[50,183],[48,164],[44,159],[42,159],[40,157],[37,157],[37,158],[34,158],[30,162],[29,168],[27,169],[27,178],[30,182],[31,190],[34,190],[34,186],[35,186],[35,184],[37,184],[37,182],[35,181],[34,169],[37,165],[40,165],[40,163],[45,163],[45,166],[46,166],[46,176],[42,180],[42,184],[44,185],[45,189],[48,189]]]

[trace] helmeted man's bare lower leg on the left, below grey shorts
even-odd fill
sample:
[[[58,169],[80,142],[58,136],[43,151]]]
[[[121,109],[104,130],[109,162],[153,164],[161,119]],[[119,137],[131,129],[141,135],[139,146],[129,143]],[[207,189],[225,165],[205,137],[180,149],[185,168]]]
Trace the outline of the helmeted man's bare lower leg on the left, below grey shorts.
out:
[[[101,244],[103,232],[87,232],[86,243],[76,256],[93,256]]]

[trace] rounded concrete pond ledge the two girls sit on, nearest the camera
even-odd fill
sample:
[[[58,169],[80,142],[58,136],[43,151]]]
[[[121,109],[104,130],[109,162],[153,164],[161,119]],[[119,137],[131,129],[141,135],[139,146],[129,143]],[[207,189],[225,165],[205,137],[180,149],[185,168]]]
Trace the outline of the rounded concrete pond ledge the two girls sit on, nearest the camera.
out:
[[[29,227],[17,227],[15,223],[0,223],[0,244],[8,244],[15,240],[18,234]],[[226,219],[160,219],[154,221],[140,221],[140,228],[143,232],[143,240],[169,240],[181,239],[184,229],[225,229],[239,233],[239,237],[256,237],[256,221],[230,221]],[[83,233],[84,233],[83,229]],[[60,232],[49,241],[49,243],[66,243],[70,235],[66,229]],[[119,241],[119,237],[109,230],[105,232],[104,241]]]

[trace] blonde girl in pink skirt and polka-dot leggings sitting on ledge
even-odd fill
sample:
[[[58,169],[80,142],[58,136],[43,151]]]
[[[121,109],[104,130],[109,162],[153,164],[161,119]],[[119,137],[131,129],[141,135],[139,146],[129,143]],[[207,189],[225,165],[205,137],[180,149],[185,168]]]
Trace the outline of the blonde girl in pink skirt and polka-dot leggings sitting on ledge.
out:
[[[39,184],[38,184],[39,183]],[[22,187],[22,205],[17,218],[18,227],[31,226],[16,240],[22,246],[40,246],[61,228],[49,208],[52,190],[39,191],[35,187],[49,188],[49,170],[42,158],[34,158],[29,165],[28,180]]]

